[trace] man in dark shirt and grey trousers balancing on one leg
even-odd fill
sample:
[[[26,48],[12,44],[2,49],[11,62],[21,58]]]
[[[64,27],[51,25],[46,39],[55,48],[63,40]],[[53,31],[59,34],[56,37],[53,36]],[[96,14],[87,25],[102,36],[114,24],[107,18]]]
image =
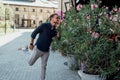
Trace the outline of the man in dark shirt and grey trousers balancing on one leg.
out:
[[[50,16],[50,22],[49,23],[43,23],[39,27],[37,27],[31,34],[31,40],[30,40],[30,50],[33,50],[34,48],[34,54],[32,55],[29,65],[33,65],[36,60],[41,57],[41,80],[45,80],[45,74],[46,74],[46,66],[47,66],[47,60],[49,57],[49,49],[50,44],[53,41],[53,38],[57,36],[60,37],[59,34],[57,34],[56,26],[60,24],[60,19],[57,14],[52,14]],[[34,39],[36,35],[39,34],[39,37],[35,43],[34,47]]]

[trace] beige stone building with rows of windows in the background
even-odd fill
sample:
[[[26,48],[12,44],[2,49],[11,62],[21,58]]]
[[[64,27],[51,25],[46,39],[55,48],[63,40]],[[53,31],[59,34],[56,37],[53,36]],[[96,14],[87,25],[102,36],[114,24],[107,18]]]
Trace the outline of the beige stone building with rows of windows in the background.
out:
[[[57,5],[50,1],[3,1],[3,4],[9,5],[13,9],[14,26],[24,28],[37,27],[58,9]]]

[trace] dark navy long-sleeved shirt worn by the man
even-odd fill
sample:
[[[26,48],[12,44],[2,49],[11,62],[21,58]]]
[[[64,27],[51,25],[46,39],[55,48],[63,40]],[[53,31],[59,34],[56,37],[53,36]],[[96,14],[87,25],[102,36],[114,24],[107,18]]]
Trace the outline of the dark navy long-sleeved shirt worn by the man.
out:
[[[36,35],[39,34],[39,37],[35,43],[37,48],[43,52],[48,52],[52,38],[57,35],[57,31],[54,28],[51,29],[51,23],[43,23],[38,26],[31,34],[31,37],[35,39]]]

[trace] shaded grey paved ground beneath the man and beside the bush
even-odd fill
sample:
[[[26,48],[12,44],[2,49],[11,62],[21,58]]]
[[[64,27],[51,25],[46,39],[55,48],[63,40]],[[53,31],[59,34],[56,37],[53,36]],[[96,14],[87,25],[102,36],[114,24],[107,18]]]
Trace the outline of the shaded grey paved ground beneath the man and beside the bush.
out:
[[[30,53],[18,50],[29,44],[30,35],[31,31],[25,31],[19,37],[0,46],[0,80],[40,80],[40,58],[33,66],[29,66]],[[58,52],[50,52],[46,80],[80,80],[77,71],[71,71],[64,65],[66,61],[67,58]]]

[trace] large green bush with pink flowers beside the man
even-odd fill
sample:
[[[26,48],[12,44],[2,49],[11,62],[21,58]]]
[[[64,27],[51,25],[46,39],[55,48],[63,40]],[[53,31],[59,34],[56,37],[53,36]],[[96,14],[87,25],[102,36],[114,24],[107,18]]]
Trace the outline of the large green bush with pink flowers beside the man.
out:
[[[79,4],[77,12],[74,8],[66,12],[61,25],[61,41],[55,41],[52,49],[59,49],[64,55],[75,55],[84,72],[104,76],[115,74],[113,80],[119,80],[119,8],[107,12],[107,7],[99,8],[98,5],[91,1],[89,5]]]

